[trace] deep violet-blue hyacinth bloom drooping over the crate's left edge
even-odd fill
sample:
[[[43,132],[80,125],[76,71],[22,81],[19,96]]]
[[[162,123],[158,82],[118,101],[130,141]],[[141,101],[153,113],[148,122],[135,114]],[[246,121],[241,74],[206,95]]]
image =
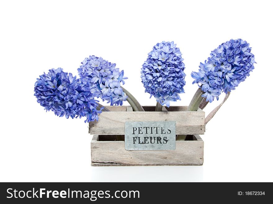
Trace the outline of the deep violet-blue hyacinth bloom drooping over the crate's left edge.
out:
[[[92,84],[73,77],[62,68],[51,69],[47,74],[40,75],[35,82],[34,96],[46,111],[66,118],[87,117],[85,122],[98,120],[101,109],[98,108]],[[97,110],[98,109],[98,110]]]

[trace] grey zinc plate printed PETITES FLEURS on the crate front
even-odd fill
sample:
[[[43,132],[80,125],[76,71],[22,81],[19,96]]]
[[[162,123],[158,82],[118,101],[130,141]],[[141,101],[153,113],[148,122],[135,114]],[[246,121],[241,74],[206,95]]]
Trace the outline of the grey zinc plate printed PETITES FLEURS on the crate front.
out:
[[[125,123],[126,150],[175,150],[175,121]]]

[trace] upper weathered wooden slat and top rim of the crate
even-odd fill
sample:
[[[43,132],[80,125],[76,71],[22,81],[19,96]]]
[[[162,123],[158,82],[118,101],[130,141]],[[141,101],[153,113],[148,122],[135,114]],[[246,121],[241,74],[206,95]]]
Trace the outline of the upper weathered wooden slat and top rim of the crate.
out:
[[[164,107],[167,111],[135,112],[125,106],[106,107],[110,112],[102,112],[99,115],[99,121],[89,123],[90,134],[123,135],[124,124],[128,121],[176,121],[176,134],[204,134],[205,132],[205,112],[201,109],[185,111],[187,107]],[[154,106],[143,108],[155,110]]]

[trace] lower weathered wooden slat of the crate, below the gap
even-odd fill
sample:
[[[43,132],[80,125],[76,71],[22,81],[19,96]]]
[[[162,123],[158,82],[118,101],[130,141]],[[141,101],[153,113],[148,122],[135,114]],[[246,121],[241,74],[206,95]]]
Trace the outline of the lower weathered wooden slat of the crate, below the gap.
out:
[[[176,141],[175,150],[128,151],[124,141],[91,142],[92,166],[203,165],[204,142],[199,135],[192,141]]]

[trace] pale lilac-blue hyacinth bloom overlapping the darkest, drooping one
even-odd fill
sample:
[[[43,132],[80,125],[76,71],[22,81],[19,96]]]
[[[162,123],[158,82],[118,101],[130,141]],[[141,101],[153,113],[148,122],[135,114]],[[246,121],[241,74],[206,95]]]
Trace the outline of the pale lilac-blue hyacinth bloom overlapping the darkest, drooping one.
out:
[[[127,97],[120,85],[124,84],[124,71],[119,71],[116,64],[112,64],[101,57],[89,56],[83,60],[78,68],[78,74],[83,81],[92,84],[92,93],[110,105],[122,105]]]

